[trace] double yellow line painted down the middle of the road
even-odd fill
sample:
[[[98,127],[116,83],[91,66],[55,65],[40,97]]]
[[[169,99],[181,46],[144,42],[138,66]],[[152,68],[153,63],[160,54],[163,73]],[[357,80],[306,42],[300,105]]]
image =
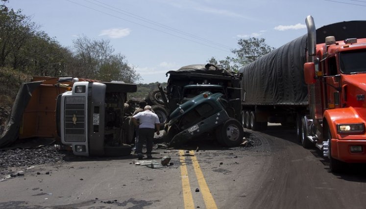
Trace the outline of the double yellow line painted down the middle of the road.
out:
[[[191,158],[193,168],[195,170],[195,175],[197,177],[198,186],[202,193],[203,201],[205,202],[206,209],[217,209],[215,200],[211,195],[210,189],[207,186],[206,180],[203,176],[202,170],[199,167],[197,158],[195,157],[195,152],[190,151],[189,156]],[[191,186],[189,184],[187,164],[185,159],[185,153],[183,150],[179,150],[179,158],[180,158],[180,173],[182,175],[182,188],[183,188],[183,199],[184,199],[184,208],[185,209],[194,209],[195,205],[193,203]]]

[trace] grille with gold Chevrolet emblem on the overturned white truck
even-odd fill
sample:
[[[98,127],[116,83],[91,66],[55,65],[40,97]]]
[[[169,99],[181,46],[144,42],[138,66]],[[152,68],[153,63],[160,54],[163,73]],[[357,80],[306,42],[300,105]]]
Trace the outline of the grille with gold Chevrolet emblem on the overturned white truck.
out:
[[[65,141],[85,141],[85,97],[65,97]]]

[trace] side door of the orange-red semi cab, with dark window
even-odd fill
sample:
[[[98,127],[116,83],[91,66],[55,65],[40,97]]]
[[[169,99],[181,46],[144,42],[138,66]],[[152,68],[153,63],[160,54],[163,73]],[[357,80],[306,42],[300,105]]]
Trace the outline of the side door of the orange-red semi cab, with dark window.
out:
[[[326,63],[326,73],[325,78],[325,89],[326,98],[325,105],[326,109],[340,108],[340,76],[337,70],[336,57],[330,57],[327,59]]]

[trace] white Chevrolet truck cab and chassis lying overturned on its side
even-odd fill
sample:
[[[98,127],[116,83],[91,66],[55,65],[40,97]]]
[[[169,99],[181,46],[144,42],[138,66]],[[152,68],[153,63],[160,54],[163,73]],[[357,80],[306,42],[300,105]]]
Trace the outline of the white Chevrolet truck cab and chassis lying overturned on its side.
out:
[[[57,97],[60,136],[82,156],[129,155],[134,128],[125,102],[137,85],[112,82],[76,82]],[[127,127],[125,129],[124,127]]]

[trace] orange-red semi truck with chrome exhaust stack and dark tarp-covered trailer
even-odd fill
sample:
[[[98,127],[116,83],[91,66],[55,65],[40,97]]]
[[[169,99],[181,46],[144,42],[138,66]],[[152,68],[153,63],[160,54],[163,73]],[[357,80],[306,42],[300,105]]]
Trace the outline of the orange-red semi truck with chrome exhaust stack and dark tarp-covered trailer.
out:
[[[330,170],[366,163],[366,21],[315,28],[240,69],[243,124],[296,127],[305,148],[330,159]]]

